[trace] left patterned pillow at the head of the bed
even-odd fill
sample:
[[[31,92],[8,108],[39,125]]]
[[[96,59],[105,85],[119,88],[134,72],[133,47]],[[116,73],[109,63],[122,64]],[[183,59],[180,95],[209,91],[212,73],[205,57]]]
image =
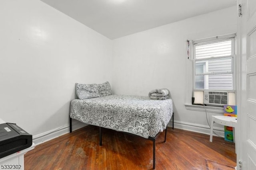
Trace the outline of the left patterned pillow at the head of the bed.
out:
[[[76,95],[79,99],[89,99],[100,97],[97,84],[76,83]]]

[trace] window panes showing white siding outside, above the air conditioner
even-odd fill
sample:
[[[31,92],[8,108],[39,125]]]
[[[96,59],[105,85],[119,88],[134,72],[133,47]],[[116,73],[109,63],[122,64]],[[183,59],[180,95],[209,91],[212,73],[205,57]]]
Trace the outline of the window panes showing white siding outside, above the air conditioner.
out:
[[[196,89],[233,89],[232,51],[232,40],[195,45]]]

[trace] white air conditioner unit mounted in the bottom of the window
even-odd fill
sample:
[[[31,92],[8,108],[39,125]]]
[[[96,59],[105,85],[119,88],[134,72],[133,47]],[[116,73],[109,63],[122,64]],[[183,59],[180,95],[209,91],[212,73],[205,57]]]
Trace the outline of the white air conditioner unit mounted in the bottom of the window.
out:
[[[205,90],[204,104],[223,106],[228,104],[228,92]]]

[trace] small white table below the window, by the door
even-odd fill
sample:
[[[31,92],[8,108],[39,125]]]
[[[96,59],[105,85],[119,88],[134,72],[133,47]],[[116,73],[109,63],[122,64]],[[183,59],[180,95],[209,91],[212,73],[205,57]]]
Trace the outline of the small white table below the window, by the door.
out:
[[[233,117],[233,116],[223,116],[223,115],[212,116],[210,142],[212,142],[212,133],[213,133],[214,122],[218,123],[220,125],[233,127],[233,137],[234,137],[234,143],[235,143],[235,137],[236,137],[235,128],[237,125],[237,118]],[[235,145],[236,145],[236,143],[235,143]]]

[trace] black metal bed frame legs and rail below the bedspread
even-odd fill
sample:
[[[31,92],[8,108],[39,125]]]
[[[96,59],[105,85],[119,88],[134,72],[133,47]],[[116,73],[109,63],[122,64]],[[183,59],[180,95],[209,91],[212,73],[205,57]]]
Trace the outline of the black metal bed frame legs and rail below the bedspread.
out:
[[[172,119],[172,129],[174,129],[174,112],[172,113],[171,119]],[[70,133],[72,133],[72,118],[71,117],[69,117],[69,123],[70,123],[70,126],[69,126],[70,129],[69,130],[70,130]],[[122,133],[127,133],[127,132],[122,132]],[[156,134],[155,137],[148,137],[148,138],[143,137],[144,139],[153,141],[153,169],[155,169],[155,165],[156,165],[156,139],[160,135],[160,133],[161,132]],[[132,133],[127,133],[127,134],[134,135]],[[167,134],[167,126],[166,126],[166,129],[165,129],[164,143],[166,143],[166,134]],[[99,138],[100,138],[100,146],[102,146],[102,127],[99,127]]]

